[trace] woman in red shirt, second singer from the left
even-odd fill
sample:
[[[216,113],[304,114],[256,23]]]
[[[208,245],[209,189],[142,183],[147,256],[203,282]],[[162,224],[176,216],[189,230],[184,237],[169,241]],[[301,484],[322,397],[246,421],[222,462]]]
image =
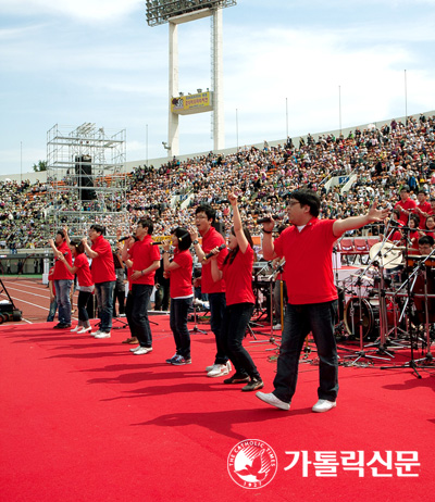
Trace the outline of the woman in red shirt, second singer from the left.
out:
[[[72,274],[77,274],[77,289],[79,291],[77,301],[78,323],[77,326],[72,329],[72,331],[77,331],[78,335],[82,335],[84,332],[90,332],[92,330],[92,328],[90,327],[89,316],[86,306],[88,304],[90,296],[94,292],[95,286],[83,242],[71,241],[70,249],[74,258],[73,265],[70,265],[66,262],[65,256],[62,253],[60,253],[58,258],[64,263],[66,268]]]

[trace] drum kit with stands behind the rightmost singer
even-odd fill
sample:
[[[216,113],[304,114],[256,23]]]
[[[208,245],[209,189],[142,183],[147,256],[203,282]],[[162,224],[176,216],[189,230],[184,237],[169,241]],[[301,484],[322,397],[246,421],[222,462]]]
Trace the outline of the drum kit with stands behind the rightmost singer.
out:
[[[345,356],[353,360],[351,364],[361,360],[388,361],[394,350],[410,348],[411,363],[406,367],[418,374],[413,349],[419,342],[426,351],[424,361],[432,363],[435,250],[428,255],[410,251],[408,246],[396,246],[384,238],[370,249],[366,265],[341,285],[337,280],[340,315],[336,336],[359,340],[359,350]]]

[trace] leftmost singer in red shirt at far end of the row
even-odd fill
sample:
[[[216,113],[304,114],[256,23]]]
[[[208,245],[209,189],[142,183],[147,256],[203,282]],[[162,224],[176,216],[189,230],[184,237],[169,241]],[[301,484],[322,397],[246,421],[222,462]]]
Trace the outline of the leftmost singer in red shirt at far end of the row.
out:
[[[69,265],[73,263],[71,250],[66,243],[66,236],[63,230],[59,230],[54,237],[54,241],[53,239],[50,239],[48,243],[51,246],[54,256],[61,252],[65,256]],[[66,268],[64,263],[58,259],[54,259],[52,280],[54,283],[55,298],[59,305],[59,323],[53,327],[53,329],[71,328],[70,293],[74,280],[74,275]]]

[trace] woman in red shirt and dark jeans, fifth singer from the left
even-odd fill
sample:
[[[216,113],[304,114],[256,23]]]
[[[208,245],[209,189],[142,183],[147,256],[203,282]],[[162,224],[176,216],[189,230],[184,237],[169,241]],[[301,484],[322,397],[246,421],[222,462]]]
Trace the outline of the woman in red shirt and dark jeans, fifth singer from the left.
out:
[[[163,242],[163,268],[170,273],[170,326],[174,335],[175,354],[166,360],[174,366],[191,364],[190,335],[187,328],[187,315],[191,308],[194,290],[191,287],[191,269],[194,260],[189,248],[190,234],[186,228],[177,227],[172,233],[172,244],[175,248],[174,259],[170,262],[170,241]]]

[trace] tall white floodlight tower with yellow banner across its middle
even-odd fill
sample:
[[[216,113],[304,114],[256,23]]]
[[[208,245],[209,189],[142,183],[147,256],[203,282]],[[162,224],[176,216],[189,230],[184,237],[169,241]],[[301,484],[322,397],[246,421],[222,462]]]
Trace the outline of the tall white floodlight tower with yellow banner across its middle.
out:
[[[236,0],[147,0],[147,23],[170,26],[170,72],[169,72],[169,127],[167,154],[179,153],[178,116],[194,113],[213,113],[214,150],[225,148],[223,110],[223,54],[222,54],[222,9],[237,3]],[[185,96],[178,92],[178,24],[212,16],[211,91],[197,89]]]

